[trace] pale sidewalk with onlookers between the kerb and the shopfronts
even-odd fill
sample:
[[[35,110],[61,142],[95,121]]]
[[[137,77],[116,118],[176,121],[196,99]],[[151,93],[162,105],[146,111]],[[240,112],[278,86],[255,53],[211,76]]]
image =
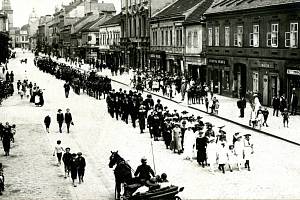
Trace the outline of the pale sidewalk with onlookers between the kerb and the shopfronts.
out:
[[[54,58],[53,58],[54,59]],[[56,60],[56,59],[55,59]],[[66,63],[70,65],[70,63],[65,62],[64,59],[59,59],[59,62]],[[74,65],[74,67],[77,67]],[[77,67],[78,68],[78,67]],[[84,64],[81,66],[82,70],[89,71],[91,70],[88,64]],[[124,73],[122,75],[112,76],[109,69],[103,69],[102,72],[98,72],[99,75],[108,76],[113,81],[130,86],[130,79],[133,77],[133,72],[129,71],[129,73]],[[154,92],[146,89],[146,92],[156,95],[158,97],[169,99],[167,96],[163,96],[162,92]],[[241,125],[243,127],[252,129],[249,126],[249,119],[251,113],[251,106],[250,103],[247,102],[247,106],[245,109],[245,117],[239,117],[239,109],[237,108],[237,100],[235,98],[225,97],[218,94],[214,94],[214,96],[220,102],[219,114],[218,118],[224,119],[226,121]],[[190,104],[187,103],[187,95],[184,101],[181,101],[181,94],[176,94],[174,98],[169,99],[173,102],[176,102],[182,106],[189,107],[200,112],[206,113],[206,108],[204,104]],[[270,135],[273,137],[277,137],[279,139],[297,144],[300,146],[300,131],[298,130],[298,124],[300,124],[300,116],[290,116],[289,120],[289,128],[283,127],[282,117],[279,114],[278,117],[273,116],[273,108],[268,108],[269,110],[269,117],[268,117],[268,125],[269,127],[263,126],[261,130],[253,129],[255,131],[261,132],[266,135]]]

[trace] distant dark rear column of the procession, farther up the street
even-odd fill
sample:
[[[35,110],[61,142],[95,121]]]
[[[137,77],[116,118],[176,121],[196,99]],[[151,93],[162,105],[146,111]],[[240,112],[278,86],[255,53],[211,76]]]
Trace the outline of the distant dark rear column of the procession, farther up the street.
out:
[[[35,65],[40,70],[66,81],[64,84],[66,98],[69,96],[70,88],[73,88],[78,95],[82,91],[96,99],[101,99],[102,95],[105,98],[111,90],[111,80],[97,75],[95,71],[86,73],[78,68],[53,61],[49,57],[36,57]]]

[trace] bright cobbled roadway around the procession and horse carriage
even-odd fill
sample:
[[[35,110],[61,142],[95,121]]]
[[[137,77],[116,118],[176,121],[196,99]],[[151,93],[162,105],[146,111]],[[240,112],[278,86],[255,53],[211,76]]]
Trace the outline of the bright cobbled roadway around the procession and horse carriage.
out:
[[[24,56],[29,62],[20,65],[19,59]],[[205,122],[213,122],[216,125],[214,128],[226,125],[224,129],[229,136],[236,131],[252,134],[255,149],[252,171],[243,169],[239,172],[235,169],[225,174],[219,171],[211,173],[207,168],[199,167],[196,161],[184,160],[182,155],[166,150],[163,141],[151,141],[149,133],[140,134],[138,128],[112,119],[107,113],[104,100],[78,96],[73,92],[66,99],[64,82],[39,71],[32,60],[31,53],[17,53],[17,58],[10,62],[9,70],[14,70],[16,80],[28,76],[30,81],[44,88],[45,105],[34,107],[15,95],[0,107],[0,121],[17,124],[12,156],[6,158],[0,155],[8,184],[3,199],[113,199],[114,176],[113,170],[108,168],[111,150],[119,150],[133,169],[140,164],[142,156],[148,158],[153,168],[154,160],[157,174],[166,172],[173,184],[185,187],[182,194],[184,199],[300,198],[298,146],[162,99],[162,104],[171,110],[176,108],[179,112],[187,110],[195,116],[200,115]],[[130,89],[115,82],[113,87]],[[70,134],[66,133],[65,127],[62,134],[58,133],[58,108],[71,110],[74,126]],[[42,128],[46,114],[52,118],[49,134]],[[72,187],[69,179],[63,178],[63,167],[55,166],[56,160],[52,153],[57,139],[62,140],[63,147],[70,147],[72,152],[81,151],[86,158],[85,182],[76,188]],[[25,176],[26,179],[21,178]]]

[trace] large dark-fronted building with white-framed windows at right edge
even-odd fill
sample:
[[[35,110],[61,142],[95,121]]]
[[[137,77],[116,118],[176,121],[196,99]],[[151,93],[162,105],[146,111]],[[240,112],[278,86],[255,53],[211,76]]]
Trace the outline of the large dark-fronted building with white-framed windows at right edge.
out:
[[[299,0],[218,0],[206,12],[207,78],[214,92],[300,95]]]

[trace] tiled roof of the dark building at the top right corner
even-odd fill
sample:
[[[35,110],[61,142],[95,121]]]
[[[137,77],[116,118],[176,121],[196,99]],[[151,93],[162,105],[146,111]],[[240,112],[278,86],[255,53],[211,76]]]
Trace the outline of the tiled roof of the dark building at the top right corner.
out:
[[[215,0],[205,14],[241,11],[293,3],[300,3],[300,0]]]

